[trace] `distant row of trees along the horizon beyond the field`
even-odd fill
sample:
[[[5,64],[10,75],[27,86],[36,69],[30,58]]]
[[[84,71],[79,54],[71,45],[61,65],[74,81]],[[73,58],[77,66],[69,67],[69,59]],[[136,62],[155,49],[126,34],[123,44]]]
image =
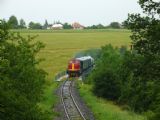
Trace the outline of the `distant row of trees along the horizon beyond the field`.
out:
[[[17,17],[14,15],[12,15],[7,22],[10,25],[11,29],[47,29],[47,28],[50,28],[53,24],[62,24],[63,29],[73,29],[70,23],[61,23],[59,21],[56,21],[53,24],[49,24],[47,20],[45,20],[44,24],[31,21],[27,25],[24,19],[18,20]],[[98,24],[98,25],[91,25],[91,26],[85,27],[85,29],[107,29],[107,28],[120,29],[120,28],[124,28],[124,25],[123,23],[120,24],[118,22],[111,22],[107,26]]]

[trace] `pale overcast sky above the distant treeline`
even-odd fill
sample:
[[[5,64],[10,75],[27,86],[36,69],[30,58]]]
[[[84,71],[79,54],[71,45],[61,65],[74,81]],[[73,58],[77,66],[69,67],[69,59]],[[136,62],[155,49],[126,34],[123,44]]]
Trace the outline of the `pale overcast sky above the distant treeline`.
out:
[[[122,22],[128,13],[140,13],[137,0],[0,0],[0,18],[44,23],[80,22],[83,25]]]

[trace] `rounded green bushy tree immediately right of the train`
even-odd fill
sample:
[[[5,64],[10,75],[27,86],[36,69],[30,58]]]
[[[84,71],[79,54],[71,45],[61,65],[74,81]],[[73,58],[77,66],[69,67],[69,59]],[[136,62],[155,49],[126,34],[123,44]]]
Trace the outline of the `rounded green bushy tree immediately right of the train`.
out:
[[[122,58],[118,49],[111,45],[102,47],[100,60],[89,77],[89,81],[93,81],[93,91],[97,96],[110,100],[118,99],[120,96],[118,71],[121,64]]]

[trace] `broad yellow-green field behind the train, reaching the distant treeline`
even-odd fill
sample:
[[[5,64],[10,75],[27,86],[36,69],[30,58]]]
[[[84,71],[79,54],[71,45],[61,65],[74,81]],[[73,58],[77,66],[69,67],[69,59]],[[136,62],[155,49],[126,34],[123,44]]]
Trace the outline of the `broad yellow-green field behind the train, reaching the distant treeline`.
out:
[[[48,80],[52,80],[55,73],[66,69],[68,60],[77,52],[100,48],[105,44],[120,47],[130,44],[130,32],[127,30],[23,30],[23,36],[39,35],[36,40],[45,44],[39,56],[45,58],[41,67],[46,70]]]

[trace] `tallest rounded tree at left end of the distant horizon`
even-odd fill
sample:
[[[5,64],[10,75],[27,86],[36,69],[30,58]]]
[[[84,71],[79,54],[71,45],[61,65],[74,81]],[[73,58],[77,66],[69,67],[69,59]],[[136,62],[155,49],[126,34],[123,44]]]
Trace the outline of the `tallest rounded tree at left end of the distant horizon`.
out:
[[[11,16],[8,20],[8,24],[10,25],[11,29],[17,29],[18,28],[18,20],[15,16]]]

